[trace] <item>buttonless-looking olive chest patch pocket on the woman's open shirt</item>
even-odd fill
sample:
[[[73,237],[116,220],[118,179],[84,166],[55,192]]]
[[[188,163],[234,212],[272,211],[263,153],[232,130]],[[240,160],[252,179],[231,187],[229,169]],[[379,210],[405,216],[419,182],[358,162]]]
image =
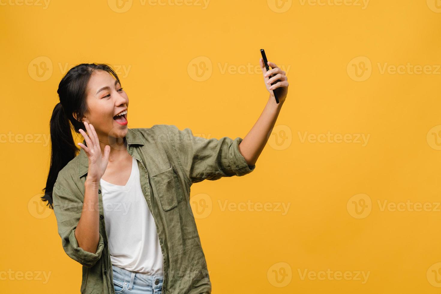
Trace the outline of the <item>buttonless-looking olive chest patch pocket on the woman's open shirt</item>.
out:
[[[153,185],[158,193],[162,210],[165,212],[176,208],[183,201],[183,192],[179,183],[179,175],[176,167],[172,164],[170,168],[152,175]]]

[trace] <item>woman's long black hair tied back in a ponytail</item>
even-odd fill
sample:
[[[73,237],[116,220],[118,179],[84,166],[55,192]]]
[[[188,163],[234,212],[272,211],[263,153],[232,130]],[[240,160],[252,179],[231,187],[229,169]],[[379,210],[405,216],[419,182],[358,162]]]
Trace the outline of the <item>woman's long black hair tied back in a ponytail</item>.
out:
[[[75,158],[80,148],[75,144],[72,130],[79,133],[84,130],[82,117],[87,112],[87,83],[94,71],[102,70],[112,74],[118,82],[120,79],[109,64],[106,63],[81,63],[72,67],[61,79],[58,85],[60,102],[55,105],[50,120],[51,136],[51,164],[46,187],[42,190],[45,195],[41,200],[53,209],[52,190],[58,173],[66,164]],[[77,119],[73,116],[76,114]]]

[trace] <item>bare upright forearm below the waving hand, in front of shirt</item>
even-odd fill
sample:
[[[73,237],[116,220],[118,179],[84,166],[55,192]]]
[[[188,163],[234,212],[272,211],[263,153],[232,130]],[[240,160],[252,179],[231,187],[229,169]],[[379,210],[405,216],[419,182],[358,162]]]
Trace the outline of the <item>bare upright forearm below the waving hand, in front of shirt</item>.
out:
[[[91,253],[97,252],[99,233],[98,182],[86,180],[83,209],[75,229],[78,246]]]

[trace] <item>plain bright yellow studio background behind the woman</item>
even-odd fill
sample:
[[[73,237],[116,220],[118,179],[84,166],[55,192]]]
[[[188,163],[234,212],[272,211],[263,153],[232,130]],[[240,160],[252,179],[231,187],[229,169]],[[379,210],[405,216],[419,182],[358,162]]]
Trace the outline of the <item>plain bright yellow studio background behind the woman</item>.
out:
[[[268,99],[253,68],[264,48],[289,67],[290,86],[256,169],[191,190],[194,211],[211,201],[195,216],[213,293],[439,293],[441,1],[330,1],[211,0],[204,9],[196,0],[1,0],[1,292],[79,292],[81,265],[64,253],[53,211],[35,202],[49,169],[43,138],[70,67],[120,67],[131,128],[244,138]],[[389,67],[407,63],[427,71]],[[195,67],[209,77],[198,81]],[[328,131],[351,140],[302,140]],[[383,207],[407,201],[431,208]],[[290,205],[286,214],[277,203]],[[369,277],[312,276],[328,269]],[[32,274],[4,279],[7,271]]]

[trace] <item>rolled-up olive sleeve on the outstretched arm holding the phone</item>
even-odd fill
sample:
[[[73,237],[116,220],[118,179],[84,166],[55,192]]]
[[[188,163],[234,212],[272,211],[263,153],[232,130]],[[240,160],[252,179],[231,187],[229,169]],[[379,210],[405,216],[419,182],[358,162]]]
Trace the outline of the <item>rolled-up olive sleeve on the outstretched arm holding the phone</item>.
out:
[[[239,151],[240,137],[206,139],[194,136],[189,128],[179,130],[166,125],[172,148],[192,182],[204,179],[217,180],[222,177],[243,176],[254,171],[256,165],[248,165]]]

